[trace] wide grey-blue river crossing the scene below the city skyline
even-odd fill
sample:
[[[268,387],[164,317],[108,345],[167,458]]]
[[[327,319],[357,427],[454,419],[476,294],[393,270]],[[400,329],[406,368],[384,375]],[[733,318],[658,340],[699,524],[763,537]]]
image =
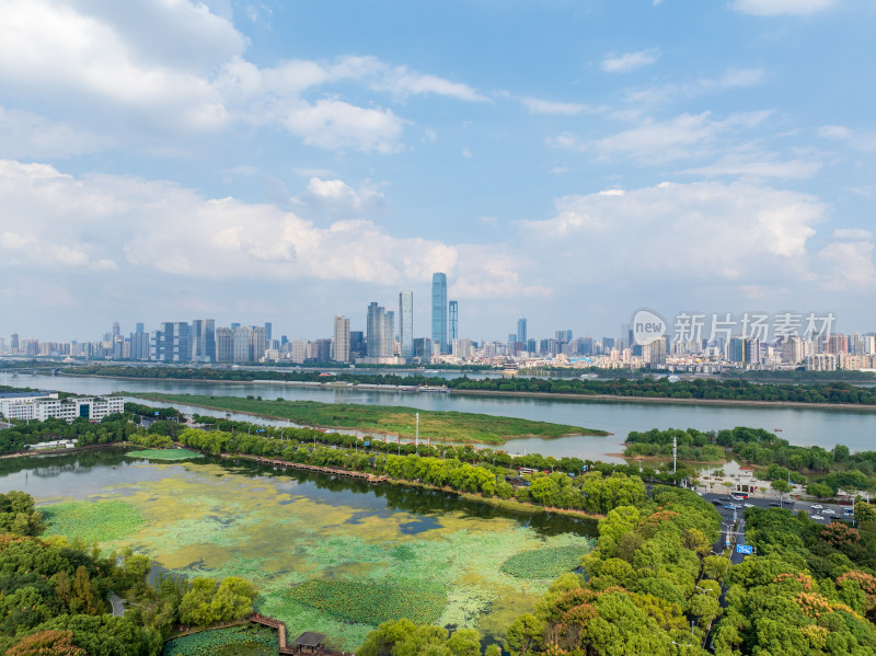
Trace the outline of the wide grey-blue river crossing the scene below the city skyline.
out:
[[[106,394],[115,391],[160,391],[181,394],[212,394],[284,398],[335,403],[405,405],[422,410],[458,411],[521,417],[587,428],[608,430],[609,437],[565,437],[552,440],[514,439],[504,449],[514,453],[538,451],[563,457],[612,460],[631,430],[650,428],[696,428],[719,430],[751,426],[780,435],[793,445],[819,445],[827,449],[837,444],[853,451],[876,448],[876,412],[871,410],[823,410],[807,407],[713,405],[698,403],[654,403],[567,400],[521,396],[476,396],[445,393],[412,393],[355,388],[306,388],[273,382],[222,383],[170,380],[76,378],[67,376],[0,375],[0,384],[61,390],[80,394]],[[181,410],[186,411],[180,404]],[[194,410],[194,408],[192,408]],[[201,411],[205,412],[205,411]],[[205,412],[205,414],[208,414]],[[215,413],[219,414],[219,413]],[[243,417],[252,421],[251,417]],[[283,424],[283,423],[277,423]],[[413,433],[413,427],[412,427]]]

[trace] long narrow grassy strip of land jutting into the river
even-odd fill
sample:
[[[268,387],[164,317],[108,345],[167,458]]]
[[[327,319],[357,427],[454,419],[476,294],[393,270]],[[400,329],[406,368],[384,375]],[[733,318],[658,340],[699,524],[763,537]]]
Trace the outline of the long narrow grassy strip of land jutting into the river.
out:
[[[240,396],[204,396],[136,392],[139,396],[165,403],[185,403],[222,412],[249,413],[277,419],[289,419],[302,426],[346,428],[365,433],[413,437],[419,413],[419,438],[437,441],[482,442],[502,445],[518,437],[554,438],[568,435],[608,435],[604,430],[533,422],[517,417],[417,410],[397,405],[356,403],[320,403],[316,401],[260,401]]]

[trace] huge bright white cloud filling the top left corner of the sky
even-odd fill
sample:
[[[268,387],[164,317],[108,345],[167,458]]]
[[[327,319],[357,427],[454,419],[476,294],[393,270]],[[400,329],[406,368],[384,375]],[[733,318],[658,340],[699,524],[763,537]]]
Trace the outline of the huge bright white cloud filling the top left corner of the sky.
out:
[[[405,122],[392,110],[351,104],[336,90],[315,101],[301,95],[338,83],[402,100],[489,102],[466,84],[374,57],[260,68],[245,60],[247,47],[228,19],[187,0],[10,0],[0,8],[0,84],[22,101],[61,99],[91,131],[149,135],[142,141],[154,151],[161,150],[155,136],[175,143],[180,135],[221,131],[239,122],[279,125],[320,148],[402,150]]]

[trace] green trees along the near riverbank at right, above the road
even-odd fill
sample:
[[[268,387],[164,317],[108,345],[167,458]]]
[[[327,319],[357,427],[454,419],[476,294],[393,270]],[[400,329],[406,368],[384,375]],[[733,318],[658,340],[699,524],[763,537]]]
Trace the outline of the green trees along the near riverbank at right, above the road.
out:
[[[758,476],[766,481],[788,480],[793,472],[822,474],[809,485],[809,493],[819,497],[833,496],[840,490],[854,494],[876,488],[876,451],[852,453],[844,445],[831,450],[796,447],[763,428],[633,430],[626,437],[624,454],[671,457],[673,438],[682,460],[721,460],[730,454],[762,468]]]

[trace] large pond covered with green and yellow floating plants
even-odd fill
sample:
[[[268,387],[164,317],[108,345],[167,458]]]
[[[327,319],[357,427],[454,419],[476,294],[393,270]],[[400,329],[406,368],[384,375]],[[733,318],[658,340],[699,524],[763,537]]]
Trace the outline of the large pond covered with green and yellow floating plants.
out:
[[[0,461],[9,490],[34,496],[49,532],[131,546],[176,574],[249,578],[260,612],[346,651],[401,617],[497,640],[596,531],[435,491],[117,449]]]

